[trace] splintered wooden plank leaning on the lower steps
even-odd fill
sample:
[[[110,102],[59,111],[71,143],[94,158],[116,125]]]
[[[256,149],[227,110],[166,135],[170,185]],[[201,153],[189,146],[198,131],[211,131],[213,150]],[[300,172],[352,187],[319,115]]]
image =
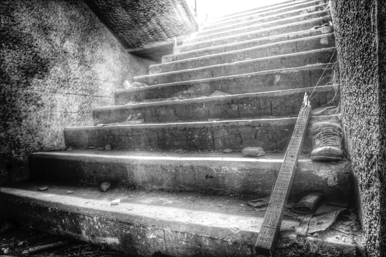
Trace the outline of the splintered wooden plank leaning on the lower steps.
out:
[[[310,113],[311,105],[307,93],[305,93],[303,106],[300,109],[298,120],[296,121],[278,179],[271,193],[271,200],[269,201],[260,233],[256,240],[255,249],[257,254],[266,256],[273,255],[281,221],[283,220],[283,211],[288,200],[289,191],[291,190],[296,164],[298,163],[308,120],[310,119]]]

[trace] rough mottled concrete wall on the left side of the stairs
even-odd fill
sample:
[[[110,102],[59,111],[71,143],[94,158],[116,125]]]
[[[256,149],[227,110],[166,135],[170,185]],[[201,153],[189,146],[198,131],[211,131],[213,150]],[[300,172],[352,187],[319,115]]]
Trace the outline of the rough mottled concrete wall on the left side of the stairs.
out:
[[[127,54],[76,0],[1,1],[0,183],[28,177],[27,156],[63,147],[65,126],[93,125],[125,79],[149,63]]]

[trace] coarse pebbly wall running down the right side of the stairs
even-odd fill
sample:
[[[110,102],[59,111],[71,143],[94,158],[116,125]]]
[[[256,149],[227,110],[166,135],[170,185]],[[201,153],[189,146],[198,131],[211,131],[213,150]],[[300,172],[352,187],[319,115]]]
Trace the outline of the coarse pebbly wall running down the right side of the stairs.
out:
[[[334,0],[335,35],[339,53],[342,123],[358,186],[359,215],[369,256],[384,256],[385,242],[385,88],[379,58],[380,22],[375,0]],[[384,25],[383,25],[384,27]],[[384,32],[383,32],[384,33]],[[384,83],[384,82],[383,82]],[[382,164],[383,162],[383,164]],[[381,211],[383,210],[383,212]]]

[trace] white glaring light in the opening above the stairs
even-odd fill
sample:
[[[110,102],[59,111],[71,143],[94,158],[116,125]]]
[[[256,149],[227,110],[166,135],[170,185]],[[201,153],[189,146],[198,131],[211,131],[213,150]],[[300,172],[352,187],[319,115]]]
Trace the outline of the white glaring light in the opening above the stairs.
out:
[[[194,0],[190,1],[194,2]],[[286,0],[196,0],[196,6],[200,16],[208,14],[209,18],[215,18],[284,1]]]

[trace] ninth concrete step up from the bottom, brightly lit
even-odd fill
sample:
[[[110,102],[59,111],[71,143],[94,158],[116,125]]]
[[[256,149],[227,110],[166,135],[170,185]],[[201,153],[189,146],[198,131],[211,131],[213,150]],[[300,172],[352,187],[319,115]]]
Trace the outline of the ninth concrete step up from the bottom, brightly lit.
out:
[[[301,33],[303,30],[310,30],[316,26],[322,26],[328,24],[331,21],[331,16],[326,15],[323,17],[317,17],[315,19],[301,20],[299,22],[287,23],[284,25],[278,25],[276,27],[257,29],[251,32],[244,32],[240,34],[223,36],[215,39],[208,39],[199,42],[185,43],[181,46],[173,47],[173,53],[186,52],[196,49],[202,49],[212,46],[220,46],[225,44],[231,44],[236,42],[247,41],[251,39],[261,39],[260,44],[268,44],[272,41],[273,37],[281,36],[288,33]],[[327,33],[327,32],[326,32]]]

